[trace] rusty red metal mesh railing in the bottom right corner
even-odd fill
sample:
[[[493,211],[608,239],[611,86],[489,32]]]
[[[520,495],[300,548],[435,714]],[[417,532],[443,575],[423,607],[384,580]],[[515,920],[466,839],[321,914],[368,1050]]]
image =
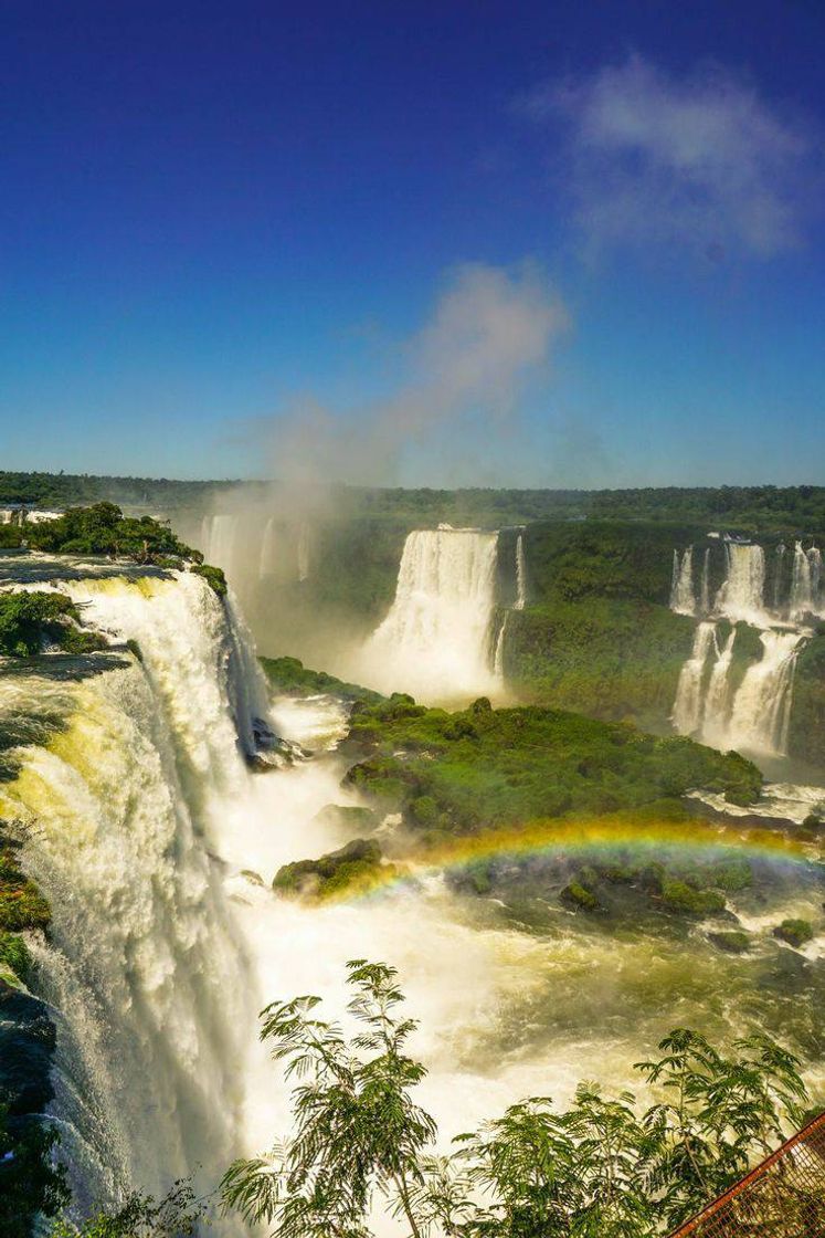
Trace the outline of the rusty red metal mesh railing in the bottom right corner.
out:
[[[825,1113],[670,1238],[825,1238]]]

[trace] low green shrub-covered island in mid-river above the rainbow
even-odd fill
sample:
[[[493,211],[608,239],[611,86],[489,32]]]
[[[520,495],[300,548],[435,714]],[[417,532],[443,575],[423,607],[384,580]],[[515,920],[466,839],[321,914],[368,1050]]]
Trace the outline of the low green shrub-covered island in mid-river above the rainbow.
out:
[[[757,766],[737,753],[560,709],[492,709],[486,698],[458,713],[406,696],[356,706],[346,747],[364,758],[349,781],[425,829],[599,816],[694,787],[752,803],[762,789]]]

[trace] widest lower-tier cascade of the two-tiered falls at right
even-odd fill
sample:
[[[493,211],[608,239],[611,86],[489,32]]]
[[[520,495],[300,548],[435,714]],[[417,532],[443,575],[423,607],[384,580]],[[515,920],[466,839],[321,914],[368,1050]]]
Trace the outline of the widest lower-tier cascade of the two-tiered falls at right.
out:
[[[782,756],[788,743],[797,655],[804,636],[763,631],[762,657],[746,671],[733,698],[727,730],[730,748]]]

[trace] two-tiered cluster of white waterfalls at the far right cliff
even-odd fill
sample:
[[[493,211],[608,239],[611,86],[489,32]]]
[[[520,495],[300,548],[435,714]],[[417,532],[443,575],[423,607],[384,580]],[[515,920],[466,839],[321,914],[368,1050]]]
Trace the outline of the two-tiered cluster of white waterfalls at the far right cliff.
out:
[[[714,555],[724,576],[714,588]],[[825,618],[821,553],[797,541],[779,543],[772,571],[762,546],[726,540],[673,552],[670,608],[699,619],[673,707],[678,732],[715,748],[782,756],[788,749],[797,659],[810,624]],[[699,568],[699,569],[696,569]],[[757,660],[737,657],[756,629]]]

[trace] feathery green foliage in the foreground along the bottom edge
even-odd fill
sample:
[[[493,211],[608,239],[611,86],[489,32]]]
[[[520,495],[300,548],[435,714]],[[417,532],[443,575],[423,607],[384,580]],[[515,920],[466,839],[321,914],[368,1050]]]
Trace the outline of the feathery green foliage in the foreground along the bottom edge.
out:
[[[752,1034],[726,1057],[677,1029],[636,1067],[652,1104],[583,1083],[569,1109],[523,1101],[437,1156],[395,969],[359,959],[349,982],[362,1028],[351,1040],[320,1018],[318,998],[263,1011],[261,1037],[298,1081],[294,1127],[268,1155],[230,1167],[224,1200],[280,1238],[370,1238],[374,1207],[411,1238],[434,1227],[450,1238],[654,1238],[801,1120],[799,1062],[779,1045]]]

